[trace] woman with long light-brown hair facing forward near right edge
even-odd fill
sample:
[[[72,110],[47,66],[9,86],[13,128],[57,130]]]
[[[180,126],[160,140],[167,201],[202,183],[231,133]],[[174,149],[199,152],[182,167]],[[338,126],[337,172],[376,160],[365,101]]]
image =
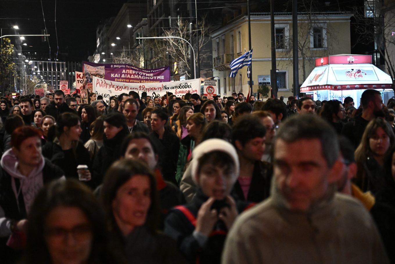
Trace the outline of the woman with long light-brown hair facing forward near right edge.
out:
[[[395,146],[395,135],[391,125],[382,118],[369,122],[361,143],[355,150],[358,168],[355,184],[363,192],[371,191],[373,194],[377,192],[377,184],[382,177],[384,157],[393,146]]]

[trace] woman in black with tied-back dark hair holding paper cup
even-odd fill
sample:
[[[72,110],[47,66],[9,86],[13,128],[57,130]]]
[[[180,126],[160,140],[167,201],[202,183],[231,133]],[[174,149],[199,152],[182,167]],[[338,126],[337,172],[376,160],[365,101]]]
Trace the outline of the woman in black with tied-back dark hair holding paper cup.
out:
[[[58,165],[67,178],[78,179],[77,166],[87,165],[90,168],[88,150],[79,141],[81,126],[79,118],[73,113],[60,114],[56,120],[56,137],[43,146],[43,156]],[[90,180],[89,169],[84,172],[83,179]]]

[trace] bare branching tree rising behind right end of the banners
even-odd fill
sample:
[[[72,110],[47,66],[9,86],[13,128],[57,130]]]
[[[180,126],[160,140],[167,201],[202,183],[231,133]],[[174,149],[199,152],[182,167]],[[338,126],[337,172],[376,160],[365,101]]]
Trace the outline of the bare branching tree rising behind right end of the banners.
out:
[[[194,38],[194,49],[196,48],[202,52],[200,53],[200,59],[207,57],[208,52],[204,52],[202,48],[209,42],[209,30],[210,27],[207,25],[205,17],[198,21],[198,27],[196,30],[192,30],[192,36]],[[179,19],[177,25],[168,30],[164,30],[164,36],[175,36],[190,40],[190,29],[189,23],[186,19]],[[196,43],[196,36],[198,35],[199,43]],[[169,38],[166,40],[155,40],[151,43],[151,48],[155,54],[155,60],[159,61],[160,66],[166,66],[169,64],[175,64],[175,67],[171,67],[173,77],[177,74],[186,73],[190,76],[190,72],[185,69],[192,69],[191,67],[191,50],[190,46],[183,40],[176,38]],[[193,56],[193,55],[192,55]],[[196,56],[195,63],[198,63],[198,57]],[[191,70],[193,73],[193,71]]]

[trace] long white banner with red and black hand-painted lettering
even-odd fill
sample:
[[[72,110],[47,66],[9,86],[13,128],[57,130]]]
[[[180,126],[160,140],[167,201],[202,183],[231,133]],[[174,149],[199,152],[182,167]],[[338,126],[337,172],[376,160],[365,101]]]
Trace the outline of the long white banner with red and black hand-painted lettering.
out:
[[[102,95],[105,103],[109,104],[111,96],[118,97],[121,93],[129,94],[130,91],[135,91],[141,95],[142,92],[147,92],[151,98],[162,97],[166,92],[171,92],[177,97],[181,97],[186,93],[200,94],[200,79],[179,81],[179,82],[160,82],[160,83],[125,83],[113,82],[102,78],[93,76],[92,78],[93,92],[96,95]]]

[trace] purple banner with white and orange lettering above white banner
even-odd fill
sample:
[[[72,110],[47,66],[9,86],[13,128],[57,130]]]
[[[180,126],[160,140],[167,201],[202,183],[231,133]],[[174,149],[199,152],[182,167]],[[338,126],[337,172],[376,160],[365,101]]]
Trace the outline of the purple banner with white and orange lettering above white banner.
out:
[[[84,83],[92,83],[92,77],[114,82],[155,83],[170,82],[170,66],[142,69],[128,64],[83,62]],[[89,85],[87,85],[89,86]]]

